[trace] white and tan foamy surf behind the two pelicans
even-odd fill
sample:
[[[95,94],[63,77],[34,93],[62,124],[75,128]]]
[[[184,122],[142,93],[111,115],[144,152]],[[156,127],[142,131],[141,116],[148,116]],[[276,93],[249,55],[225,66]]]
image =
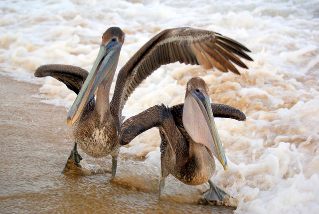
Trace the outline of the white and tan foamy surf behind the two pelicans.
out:
[[[250,69],[239,69],[241,76],[178,63],[162,66],[132,94],[123,115],[183,102],[186,82],[200,76],[213,102],[247,116],[245,122],[216,119],[229,166],[224,171],[216,162],[212,181],[237,200],[235,212],[318,212],[318,0],[0,1],[0,72],[42,85],[35,95],[41,102],[68,109],[76,95],[33,72],[50,63],[89,71],[110,26],[126,33],[117,70],[152,36],[171,27],[212,30],[247,46],[254,62],[246,61]],[[146,163],[160,169],[159,145],[158,130],[152,129],[123,147],[120,156],[146,156]]]

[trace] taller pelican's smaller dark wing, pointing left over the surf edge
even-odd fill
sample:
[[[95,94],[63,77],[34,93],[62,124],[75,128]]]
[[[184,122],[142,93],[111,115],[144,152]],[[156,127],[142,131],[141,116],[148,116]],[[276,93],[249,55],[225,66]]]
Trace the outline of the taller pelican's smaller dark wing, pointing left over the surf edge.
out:
[[[34,76],[36,77],[54,77],[63,82],[68,89],[74,91],[76,94],[79,93],[88,75],[89,72],[83,68],[62,64],[41,65],[34,72]]]

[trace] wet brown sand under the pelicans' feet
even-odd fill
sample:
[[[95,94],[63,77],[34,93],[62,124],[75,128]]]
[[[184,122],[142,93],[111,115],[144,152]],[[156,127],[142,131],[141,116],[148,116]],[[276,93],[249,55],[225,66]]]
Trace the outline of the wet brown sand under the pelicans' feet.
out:
[[[165,186],[168,196],[159,201],[160,169],[121,154],[113,182],[111,157],[94,159],[82,151],[86,162],[99,164],[106,173],[62,175],[73,146],[67,111],[32,97],[38,89],[0,76],[0,213],[232,213],[197,205],[200,193],[179,188],[173,178]],[[172,193],[174,186],[180,193]]]

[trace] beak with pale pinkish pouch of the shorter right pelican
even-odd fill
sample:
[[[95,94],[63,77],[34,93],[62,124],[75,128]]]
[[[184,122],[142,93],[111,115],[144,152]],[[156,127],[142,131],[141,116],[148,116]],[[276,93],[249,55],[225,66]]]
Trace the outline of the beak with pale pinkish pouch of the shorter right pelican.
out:
[[[189,105],[191,109],[187,109]],[[224,170],[227,170],[227,160],[215,125],[209,96],[205,96],[202,92],[190,91],[185,99],[184,111],[185,110],[185,114],[189,111],[188,114],[191,114],[191,117],[195,117],[195,119],[191,119],[193,125],[189,126],[188,130],[183,121],[187,133],[190,134],[190,137],[195,142],[205,145],[223,165]]]

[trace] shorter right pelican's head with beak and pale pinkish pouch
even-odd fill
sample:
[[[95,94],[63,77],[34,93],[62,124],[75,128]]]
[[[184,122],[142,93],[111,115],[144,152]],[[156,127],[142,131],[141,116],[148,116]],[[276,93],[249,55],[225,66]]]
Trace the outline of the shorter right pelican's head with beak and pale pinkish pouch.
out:
[[[191,139],[203,144],[227,170],[227,161],[211,109],[208,86],[202,78],[191,78],[186,86],[183,125]]]

